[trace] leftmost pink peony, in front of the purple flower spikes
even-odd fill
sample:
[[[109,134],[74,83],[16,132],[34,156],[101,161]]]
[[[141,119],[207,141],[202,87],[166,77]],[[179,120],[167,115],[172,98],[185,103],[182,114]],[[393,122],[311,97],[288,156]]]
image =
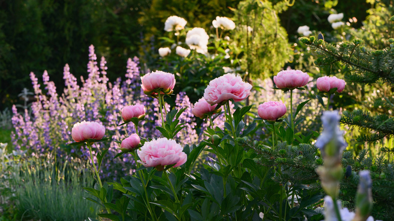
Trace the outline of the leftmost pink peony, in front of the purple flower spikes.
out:
[[[74,124],[71,137],[76,142],[86,141],[87,139],[101,140],[105,132],[106,128],[97,122],[82,121]]]

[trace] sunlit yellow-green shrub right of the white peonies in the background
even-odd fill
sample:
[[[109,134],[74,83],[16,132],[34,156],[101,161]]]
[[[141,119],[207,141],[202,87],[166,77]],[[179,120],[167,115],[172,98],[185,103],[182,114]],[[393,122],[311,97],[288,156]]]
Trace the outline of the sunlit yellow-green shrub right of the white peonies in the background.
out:
[[[237,27],[231,48],[248,79],[273,76],[289,59],[287,33],[278,17],[286,9],[285,2],[248,0],[234,11]]]

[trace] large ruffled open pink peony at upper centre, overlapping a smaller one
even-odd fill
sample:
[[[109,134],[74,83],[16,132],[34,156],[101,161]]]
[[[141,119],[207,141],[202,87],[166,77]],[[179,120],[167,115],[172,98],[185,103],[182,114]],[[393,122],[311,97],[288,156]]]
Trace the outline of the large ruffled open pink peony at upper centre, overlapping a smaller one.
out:
[[[233,99],[241,101],[249,96],[252,85],[242,81],[242,78],[234,74],[225,74],[209,82],[204,91],[204,98],[209,104],[221,103]]]

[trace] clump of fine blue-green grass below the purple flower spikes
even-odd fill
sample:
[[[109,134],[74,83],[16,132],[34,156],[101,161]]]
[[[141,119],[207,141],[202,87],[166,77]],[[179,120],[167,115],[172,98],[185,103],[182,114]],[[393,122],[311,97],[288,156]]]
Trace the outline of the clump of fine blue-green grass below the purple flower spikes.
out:
[[[86,164],[78,160],[55,165],[40,159],[23,161],[12,182],[18,217],[40,220],[83,220],[98,208],[86,201],[82,186],[93,184]],[[72,211],[72,212],[70,212]]]

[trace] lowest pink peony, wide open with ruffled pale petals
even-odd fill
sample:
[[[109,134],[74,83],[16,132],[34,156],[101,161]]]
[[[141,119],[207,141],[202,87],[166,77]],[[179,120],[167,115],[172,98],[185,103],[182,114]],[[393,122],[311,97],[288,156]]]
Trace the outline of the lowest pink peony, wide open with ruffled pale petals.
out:
[[[137,154],[145,167],[156,167],[158,171],[164,169],[165,165],[174,164],[179,167],[186,162],[187,155],[182,152],[183,148],[175,140],[167,138],[152,139],[145,142]]]

